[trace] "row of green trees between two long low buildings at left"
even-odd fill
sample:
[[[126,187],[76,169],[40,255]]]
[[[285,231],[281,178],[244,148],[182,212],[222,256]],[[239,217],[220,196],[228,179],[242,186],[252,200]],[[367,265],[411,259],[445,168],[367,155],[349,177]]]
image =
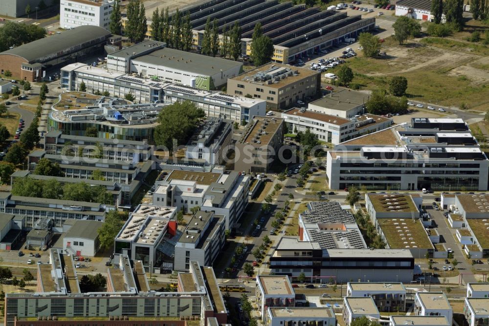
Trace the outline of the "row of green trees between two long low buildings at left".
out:
[[[63,185],[56,179],[17,178],[12,185],[12,194],[24,197],[112,204],[112,195],[105,186],[92,186],[85,182]]]

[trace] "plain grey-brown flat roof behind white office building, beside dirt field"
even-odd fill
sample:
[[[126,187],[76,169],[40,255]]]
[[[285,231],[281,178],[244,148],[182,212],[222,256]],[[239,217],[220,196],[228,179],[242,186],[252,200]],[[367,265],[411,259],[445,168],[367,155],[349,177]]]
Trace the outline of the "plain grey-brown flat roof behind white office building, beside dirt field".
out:
[[[339,92],[331,93],[331,95],[321,97],[310,104],[325,109],[348,111],[356,108],[359,105],[367,103],[368,99],[369,94],[367,93],[352,90],[341,90]]]

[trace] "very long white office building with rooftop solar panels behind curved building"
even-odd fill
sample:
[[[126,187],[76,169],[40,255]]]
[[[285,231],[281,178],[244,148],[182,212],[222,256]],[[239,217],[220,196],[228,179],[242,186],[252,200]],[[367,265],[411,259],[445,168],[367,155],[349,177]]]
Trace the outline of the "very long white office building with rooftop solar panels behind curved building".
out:
[[[190,100],[208,117],[221,117],[238,123],[243,120],[249,121],[253,116],[264,116],[266,113],[267,102],[258,98],[231,96],[158,78],[143,78],[127,75],[125,72],[90,67],[82,63],[71,64],[61,69],[62,89],[76,91],[82,82],[85,83],[88,92],[109,92],[111,96],[119,98],[131,93],[139,103],[159,101],[158,103],[172,104]]]

